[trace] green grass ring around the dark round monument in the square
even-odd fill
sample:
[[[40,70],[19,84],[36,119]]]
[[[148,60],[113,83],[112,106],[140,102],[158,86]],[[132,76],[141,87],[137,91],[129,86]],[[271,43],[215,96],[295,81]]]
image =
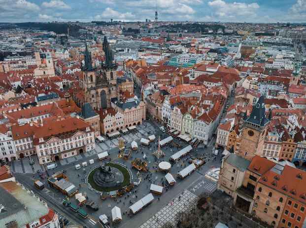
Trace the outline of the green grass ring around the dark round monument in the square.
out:
[[[96,185],[96,183],[93,180],[94,173],[98,169],[98,168],[96,168],[96,169],[92,170],[91,173],[88,175],[88,183],[91,185],[91,187],[93,189],[98,190],[98,191],[114,191],[114,190],[122,189],[122,188],[124,188],[124,187],[126,187],[130,184],[131,176],[130,176],[129,171],[125,167],[123,167],[119,164],[116,164],[116,163],[112,163],[112,162],[106,163],[106,166],[117,168],[120,172],[122,172],[122,174],[123,174],[122,184],[120,186],[114,187],[114,188],[106,188],[106,187],[102,188],[102,187]]]

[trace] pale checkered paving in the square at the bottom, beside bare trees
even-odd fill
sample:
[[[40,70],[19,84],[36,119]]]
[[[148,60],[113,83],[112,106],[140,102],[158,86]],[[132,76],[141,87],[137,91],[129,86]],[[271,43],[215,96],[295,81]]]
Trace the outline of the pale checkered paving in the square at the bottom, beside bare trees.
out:
[[[188,205],[193,205],[193,202],[198,199],[198,196],[188,190],[184,190],[179,196],[170,201],[167,206],[162,208],[139,228],[161,228],[167,222],[175,226],[174,220],[177,213],[185,211]]]

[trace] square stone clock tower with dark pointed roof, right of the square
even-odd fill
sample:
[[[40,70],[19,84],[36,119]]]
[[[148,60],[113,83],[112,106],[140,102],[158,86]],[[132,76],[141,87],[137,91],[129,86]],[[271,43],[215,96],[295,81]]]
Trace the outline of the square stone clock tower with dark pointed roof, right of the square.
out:
[[[252,159],[256,154],[261,154],[267,128],[271,116],[266,117],[264,96],[261,96],[253,106],[250,116],[244,120],[241,134],[241,142],[238,154],[246,159]]]

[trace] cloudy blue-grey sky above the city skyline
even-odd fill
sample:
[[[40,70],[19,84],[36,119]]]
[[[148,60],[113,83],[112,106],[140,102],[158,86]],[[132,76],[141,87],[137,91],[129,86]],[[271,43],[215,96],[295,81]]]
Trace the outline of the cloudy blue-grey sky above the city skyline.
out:
[[[306,0],[0,0],[0,22],[306,22]]]

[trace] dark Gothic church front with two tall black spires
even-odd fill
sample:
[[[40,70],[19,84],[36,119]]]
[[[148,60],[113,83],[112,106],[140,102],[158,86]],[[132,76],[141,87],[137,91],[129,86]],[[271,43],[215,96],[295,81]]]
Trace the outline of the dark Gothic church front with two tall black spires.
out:
[[[80,86],[84,90],[84,103],[89,103],[95,110],[109,108],[110,100],[117,97],[118,65],[113,61],[106,37],[103,41],[103,51],[105,61],[102,62],[101,69],[93,68],[91,54],[86,45],[82,66],[83,77],[80,78]]]

